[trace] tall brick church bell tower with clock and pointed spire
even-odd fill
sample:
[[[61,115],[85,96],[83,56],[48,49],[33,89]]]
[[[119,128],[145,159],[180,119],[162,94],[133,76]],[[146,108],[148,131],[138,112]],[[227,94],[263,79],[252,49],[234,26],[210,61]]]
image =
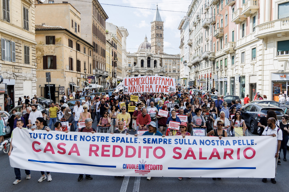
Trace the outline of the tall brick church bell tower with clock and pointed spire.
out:
[[[164,22],[161,19],[157,5],[157,10],[151,22],[151,51],[158,54],[164,53]]]

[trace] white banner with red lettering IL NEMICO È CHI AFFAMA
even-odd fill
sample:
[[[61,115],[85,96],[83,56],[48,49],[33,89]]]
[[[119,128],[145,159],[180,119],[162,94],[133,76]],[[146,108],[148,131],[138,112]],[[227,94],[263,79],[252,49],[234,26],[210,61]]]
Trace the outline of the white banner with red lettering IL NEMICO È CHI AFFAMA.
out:
[[[138,76],[123,78],[123,93],[171,93],[176,92],[175,78],[163,76]]]

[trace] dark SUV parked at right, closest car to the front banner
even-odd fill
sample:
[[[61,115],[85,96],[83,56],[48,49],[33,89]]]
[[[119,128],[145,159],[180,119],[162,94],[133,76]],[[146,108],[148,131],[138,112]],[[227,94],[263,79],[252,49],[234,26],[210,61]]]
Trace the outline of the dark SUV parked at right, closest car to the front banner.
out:
[[[268,104],[260,104],[260,103],[252,103],[248,104],[246,107],[242,109],[243,111],[243,119],[248,129],[250,129],[251,133],[256,134],[258,129],[258,123],[262,116],[267,115],[267,111],[272,109],[275,111],[277,115],[277,119],[281,123],[281,118],[285,115],[283,109],[277,106],[268,105]]]

